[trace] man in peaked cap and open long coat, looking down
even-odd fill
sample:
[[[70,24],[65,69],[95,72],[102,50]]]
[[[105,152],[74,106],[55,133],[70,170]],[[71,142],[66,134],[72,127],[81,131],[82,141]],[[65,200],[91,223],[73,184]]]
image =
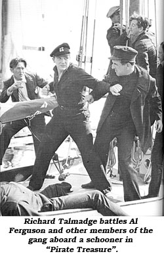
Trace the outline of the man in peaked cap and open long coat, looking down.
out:
[[[92,154],[97,155],[97,158],[94,157],[94,162],[92,158],[90,160],[94,170],[101,169],[100,160],[105,170],[109,144],[117,138],[125,201],[140,199],[131,149],[135,136],[138,136],[144,154],[152,146],[150,106],[155,113],[157,132],[162,130],[161,98],[155,86],[155,79],[144,68],[135,64],[136,55],[137,51],[131,47],[114,47],[110,60],[115,75],[110,79],[110,93],[96,131]],[[91,96],[90,102],[93,98]],[[98,99],[98,95],[95,99]]]

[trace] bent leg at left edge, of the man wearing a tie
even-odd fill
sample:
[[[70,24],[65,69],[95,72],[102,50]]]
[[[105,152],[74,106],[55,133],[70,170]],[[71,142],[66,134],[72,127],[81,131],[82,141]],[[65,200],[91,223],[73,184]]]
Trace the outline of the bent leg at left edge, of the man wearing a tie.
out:
[[[23,119],[3,125],[2,133],[0,135],[0,165],[2,164],[5,151],[10,144],[10,139],[24,127],[26,127],[26,123]]]

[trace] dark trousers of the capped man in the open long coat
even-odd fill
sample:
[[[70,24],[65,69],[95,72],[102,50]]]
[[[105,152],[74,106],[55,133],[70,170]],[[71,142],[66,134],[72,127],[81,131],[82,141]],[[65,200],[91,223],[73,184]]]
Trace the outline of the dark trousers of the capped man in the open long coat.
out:
[[[94,157],[91,158],[91,161],[94,160],[91,162],[94,171],[100,171],[101,169],[105,171],[110,142],[117,137],[118,160],[123,179],[125,201],[140,199],[137,171],[131,161],[131,149],[135,135],[136,129],[132,119],[125,122],[117,115],[109,115],[96,135],[92,152]]]

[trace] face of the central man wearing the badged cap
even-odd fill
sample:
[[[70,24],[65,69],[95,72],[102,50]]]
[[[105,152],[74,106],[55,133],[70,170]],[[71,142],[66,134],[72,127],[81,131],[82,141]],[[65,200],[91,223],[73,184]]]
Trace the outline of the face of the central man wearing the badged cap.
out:
[[[59,72],[64,72],[70,66],[70,54],[54,56],[53,60]]]

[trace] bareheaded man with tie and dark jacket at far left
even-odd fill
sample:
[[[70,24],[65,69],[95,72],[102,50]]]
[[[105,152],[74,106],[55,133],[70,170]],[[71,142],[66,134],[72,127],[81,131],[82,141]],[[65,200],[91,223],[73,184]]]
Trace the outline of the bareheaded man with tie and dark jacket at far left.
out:
[[[12,77],[4,81],[3,91],[0,96],[0,102],[5,103],[11,97],[12,102],[34,100],[39,98],[38,87],[45,87],[47,81],[39,77],[37,74],[26,73],[27,62],[23,58],[14,58],[10,61],[10,71]],[[45,131],[45,114],[40,114],[31,121],[27,118],[12,121],[3,125],[2,133],[0,135],[0,165],[7,150],[10,139],[22,128],[29,126],[33,131],[33,142],[35,152],[39,146],[39,140]]]

